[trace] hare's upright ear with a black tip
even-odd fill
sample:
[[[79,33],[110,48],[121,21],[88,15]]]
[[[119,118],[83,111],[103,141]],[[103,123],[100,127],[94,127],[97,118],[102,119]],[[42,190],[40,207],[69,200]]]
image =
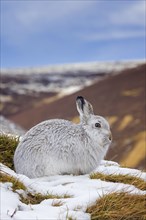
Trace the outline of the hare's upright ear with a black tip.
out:
[[[90,115],[93,115],[92,105],[82,96],[76,98],[77,110],[80,114],[81,122],[86,122]]]

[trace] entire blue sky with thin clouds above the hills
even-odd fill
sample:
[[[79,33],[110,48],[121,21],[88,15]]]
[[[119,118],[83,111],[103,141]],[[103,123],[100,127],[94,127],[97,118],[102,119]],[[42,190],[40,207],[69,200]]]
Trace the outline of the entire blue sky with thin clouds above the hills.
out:
[[[145,0],[1,0],[1,67],[145,59]]]

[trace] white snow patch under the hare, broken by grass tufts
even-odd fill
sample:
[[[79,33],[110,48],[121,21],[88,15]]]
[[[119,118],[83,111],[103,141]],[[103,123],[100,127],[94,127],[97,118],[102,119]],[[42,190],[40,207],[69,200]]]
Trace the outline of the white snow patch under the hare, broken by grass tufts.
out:
[[[1,219],[22,220],[88,220],[90,214],[86,213],[88,206],[105,194],[112,192],[129,192],[146,194],[133,185],[90,179],[88,175],[72,176],[59,175],[37,179],[16,174],[13,170],[1,164],[1,171],[18,178],[31,193],[70,195],[70,198],[46,199],[37,205],[26,205],[20,201],[20,193],[12,191],[11,183],[1,183]],[[130,174],[146,180],[146,173],[135,169],[121,168],[117,163],[103,160],[94,171],[104,174]],[[60,206],[55,206],[55,204]]]

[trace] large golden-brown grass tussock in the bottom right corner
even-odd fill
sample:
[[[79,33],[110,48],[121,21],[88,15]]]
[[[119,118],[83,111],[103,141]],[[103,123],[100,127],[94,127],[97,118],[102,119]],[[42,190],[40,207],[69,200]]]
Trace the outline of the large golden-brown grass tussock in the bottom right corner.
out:
[[[91,220],[145,220],[145,195],[112,193],[101,197],[87,209]]]

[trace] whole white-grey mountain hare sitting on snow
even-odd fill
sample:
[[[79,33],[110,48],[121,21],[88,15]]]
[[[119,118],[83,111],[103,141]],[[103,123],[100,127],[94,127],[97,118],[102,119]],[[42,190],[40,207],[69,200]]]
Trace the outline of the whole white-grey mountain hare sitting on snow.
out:
[[[41,122],[20,141],[14,155],[17,173],[30,178],[87,174],[104,158],[111,144],[108,122],[94,115],[82,96],[76,99],[80,123],[63,119]]]

